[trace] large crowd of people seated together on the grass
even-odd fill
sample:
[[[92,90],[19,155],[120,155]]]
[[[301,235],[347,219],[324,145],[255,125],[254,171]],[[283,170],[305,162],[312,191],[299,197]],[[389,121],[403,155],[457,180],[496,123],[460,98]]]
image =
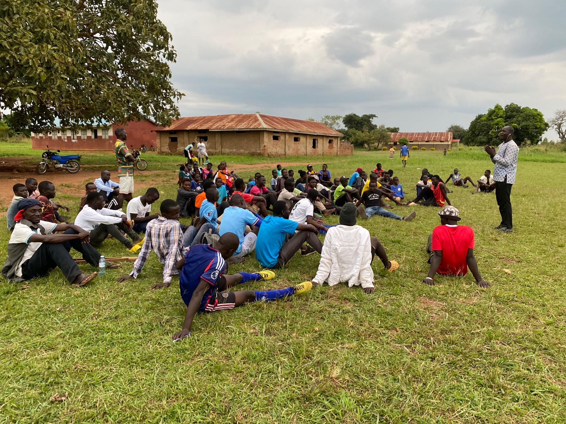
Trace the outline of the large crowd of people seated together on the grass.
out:
[[[474,257],[474,231],[457,225],[460,216],[448,198],[451,191],[439,175],[426,168],[414,188],[404,189],[393,170],[384,170],[380,163],[371,172],[360,167],[350,176],[335,178],[326,164],[318,172],[309,164],[306,170],[297,171],[297,179],[292,170],[277,165],[269,181],[260,172],[245,181],[224,161],[216,169],[208,156],[203,167],[191,162],[179,165],[177,198],[162,200],[158,213],[152,211],[152,205],[160,200],[160,193],[153,187],[132,197],[123,213],[116,201],[119,185],[106,170],[99,179],[85,185],[74,223],[60,214],[68,207],[54,201],[56,188],[50,181],[38,184],[36,179],[28,178],[23,184],[15,184],[6,217],[11,237],[2,275],[22,281],[48,275],[58,267],[71,284],[87,284],[97,273],[83,274],[69,254],[70,249],[82,254],[89,265],[98,267],[99,249],[104,249],[104,241],[113,237],[127,252],[138,253],[130,274],[118,279],[123,282],[141,274],[153,251],[163,265],[163,280],[152,288],[168,287],[172,276],[179,275],[187,310],[183,330],[173,339],[181,340],[190,334],[197,311],[276,300],[324,282],[345,282],[371,293],[374,256],[379,257],[387,272],[397,270],[399,264],[388,258],[381,241],[358,225],[357,219],[380,215],[410,222],[417,216],[415,211],[397,214],[393,210],[422,205],[442,208],[438,212],[440,225],[432,230],[426,246],[430,269],[423,282],[434,284],[436,274],[465,275],[469,268],[479,286],[489,286]],[[469,176],[462,179],[457,168],[449,180],[456,187],[472,183]],[[474,188],[474,193],[493,191],[489,170]],[[407,201],[410,195],[405,191],[413,190],[415,197]],[[324,218],[332,214],[339,215],[339,224],[324,223]],[[191,224],[180,224],[180,217],[191,218]],[[320,235],[325,236],[324,240]],[[247,255],[255,254],[265,269],[278,269],[292,266],[292,258],[299,251],[302,256],[319,254],[312,282],[270,291],[228,290],[237,284],[275,277],[270,270],[228,275],[228,264],[243,262]],[[120,266],[106,261],[109,269]]]

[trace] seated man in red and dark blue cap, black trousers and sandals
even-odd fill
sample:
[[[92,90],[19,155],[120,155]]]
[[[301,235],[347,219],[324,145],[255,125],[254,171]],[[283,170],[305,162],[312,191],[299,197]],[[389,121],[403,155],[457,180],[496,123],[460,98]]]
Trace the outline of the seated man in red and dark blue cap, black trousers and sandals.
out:
[[[69,283],[75,286],[87,284],[96,276],[83,274],[69,254],[71,248],[83,259],[98,267],[100,253],[89,243],[89,233],[73,224],[57,224],[41,220],[42,205],[37,199],[24,198],[18,202],[16,224],[8,241],[6,263],[2,275],[8,280],[22,282],[48,275],[59,268]],[[63,232],[63,234],[55,234]],[[108,269],[119,267],[106,262]]]

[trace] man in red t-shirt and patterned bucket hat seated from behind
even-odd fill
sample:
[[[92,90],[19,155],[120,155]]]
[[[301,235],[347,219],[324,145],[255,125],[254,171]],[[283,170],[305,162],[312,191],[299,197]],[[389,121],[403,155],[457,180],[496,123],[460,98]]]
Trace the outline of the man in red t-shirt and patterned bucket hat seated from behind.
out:
[[[479,287],[490,287],[490,283],[482,278],[478,270],[478,262],[474,256],[474,230],[466,225],[458,225],[460,213],[454,206],[444,206],[439,213],[440,225],[432,230],[428,237],[427,252],[432,253],[428,260],[430,270],[423,283],[434,285],[434,276],[464,276],[470,267],[475,284]]]

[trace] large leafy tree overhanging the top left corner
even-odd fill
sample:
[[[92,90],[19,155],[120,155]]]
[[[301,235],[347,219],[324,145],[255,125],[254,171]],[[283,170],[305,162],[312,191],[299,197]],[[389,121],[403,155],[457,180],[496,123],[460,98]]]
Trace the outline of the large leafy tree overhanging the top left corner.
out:
[[[0,3],[0,108],[16,127],[179,116],[171,34],[153,0]]]

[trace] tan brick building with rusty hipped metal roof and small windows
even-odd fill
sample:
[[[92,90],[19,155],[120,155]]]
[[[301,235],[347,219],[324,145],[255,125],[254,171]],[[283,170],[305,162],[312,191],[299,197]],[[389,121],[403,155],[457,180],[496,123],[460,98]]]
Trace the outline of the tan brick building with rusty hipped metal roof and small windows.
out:
[[[351,155],[349,141],[320,122],[263,114],[187,116],[157,131],[157,152],[182,154],[199,140],[208,154]]]

